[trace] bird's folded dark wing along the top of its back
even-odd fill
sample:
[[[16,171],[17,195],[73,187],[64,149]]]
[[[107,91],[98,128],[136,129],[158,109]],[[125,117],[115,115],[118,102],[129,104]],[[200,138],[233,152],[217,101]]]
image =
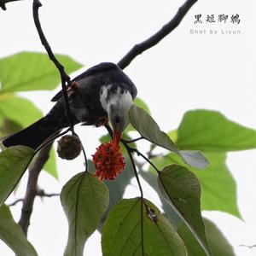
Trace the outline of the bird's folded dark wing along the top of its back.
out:
[[[111,69],[113,67],[116,67],[115,64],[111,63],[111,62],[102,62],[94,67],[90,67],[89,69],[87,69],[86,71],[84,71],[84,73],[79,74],[79,76],[77,76],[76,78],[72,79],[72,82],[78,82],[81,79],[84,79],[90,75],[93,75],[94,73],[98,73],[98,72],[102,72],[102,71],[107,71],[108,69]],[[67,85],[67,89],[68,89],[69,85]],[[62,90],[60,90],[52,99],[51,102],[57,102],[61,97],[62,97],[63,93]]]

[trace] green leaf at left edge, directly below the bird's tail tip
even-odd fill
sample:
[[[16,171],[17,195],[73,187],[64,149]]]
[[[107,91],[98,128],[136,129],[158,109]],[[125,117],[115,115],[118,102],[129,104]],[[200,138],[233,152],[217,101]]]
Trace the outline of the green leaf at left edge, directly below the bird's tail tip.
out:
[[[24,146],[10,147],[0,153],[0,206],[15,189],[34,154],[32,148]]]

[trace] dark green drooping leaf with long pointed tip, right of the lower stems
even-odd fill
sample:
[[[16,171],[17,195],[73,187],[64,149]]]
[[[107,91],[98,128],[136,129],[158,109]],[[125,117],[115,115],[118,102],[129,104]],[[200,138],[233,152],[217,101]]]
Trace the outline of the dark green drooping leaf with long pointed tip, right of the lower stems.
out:
[[[158,182],[166,201],[183,218],[207,255],[211,255],[201,218],[201,186],[198,179],[185,167],[172,165],[159,173]]]

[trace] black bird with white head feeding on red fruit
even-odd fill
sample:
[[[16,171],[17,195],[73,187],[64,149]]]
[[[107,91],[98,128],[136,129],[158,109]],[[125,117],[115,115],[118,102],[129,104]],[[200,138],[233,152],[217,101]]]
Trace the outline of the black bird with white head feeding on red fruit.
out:
[[[122,69],[112,62],[90,67],[66,86],[70,119],[73,125],[108,124],[113,137],[119,140],[129,125],[129,110],[137,96],[137,87]],[[62,90],[51,100],[55,102],[42,119],[24,130],[3,139],[6,148],[23,145],[36,150],[50,137],[69,127]]]

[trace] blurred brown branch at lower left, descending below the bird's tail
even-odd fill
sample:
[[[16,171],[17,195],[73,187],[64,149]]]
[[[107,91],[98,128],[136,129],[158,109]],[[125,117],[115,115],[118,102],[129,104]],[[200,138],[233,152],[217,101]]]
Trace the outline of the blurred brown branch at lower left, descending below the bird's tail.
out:
[[[21,215],[19,224],[24,234],[27,235],[28,226],[30,224],[30,218],[32,215],[33,204],[36,195],[38,194],[38,176],[44,167],[45,162],[49,158],[49,150],[52,143],[42,148],[39,152],[37,159],[34,161],[29,169],[28,180],[26,184],[26,195],[23,200],[21,208]]]

